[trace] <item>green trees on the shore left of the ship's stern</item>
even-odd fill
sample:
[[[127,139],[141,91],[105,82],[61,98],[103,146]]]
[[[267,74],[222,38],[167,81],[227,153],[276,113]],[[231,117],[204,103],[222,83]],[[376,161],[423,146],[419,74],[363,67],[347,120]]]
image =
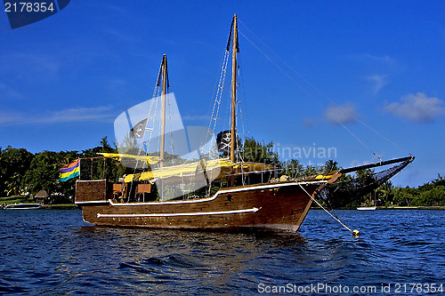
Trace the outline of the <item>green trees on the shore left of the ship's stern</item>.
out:
[[[26,148],[0,148],[0,196],[34,196],[42,189],[49,195],[74,196],[76,179],[61,182],[61,167],[82,160],[81,177],[85,179],[109,178],[117,175],[120,169],[111,159],[98,158],[97,153],[115,152],[107,137],[101,140],[101,146],[83,151],[43,151],[33,154]],[[105,164],[105,165],[104,165]],[[105,170],[104,170],[105,168]]]

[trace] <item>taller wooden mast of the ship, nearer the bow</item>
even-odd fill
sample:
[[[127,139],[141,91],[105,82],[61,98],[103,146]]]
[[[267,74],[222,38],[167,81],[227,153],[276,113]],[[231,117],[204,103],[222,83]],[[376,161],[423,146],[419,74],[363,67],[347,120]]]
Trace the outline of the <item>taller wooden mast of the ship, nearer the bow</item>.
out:
[[[237,52],[238,52],[238,24],[237,15],[233,16],[233,42],[231,53],[231,162],[235,161],[235,120],[237,97]]]

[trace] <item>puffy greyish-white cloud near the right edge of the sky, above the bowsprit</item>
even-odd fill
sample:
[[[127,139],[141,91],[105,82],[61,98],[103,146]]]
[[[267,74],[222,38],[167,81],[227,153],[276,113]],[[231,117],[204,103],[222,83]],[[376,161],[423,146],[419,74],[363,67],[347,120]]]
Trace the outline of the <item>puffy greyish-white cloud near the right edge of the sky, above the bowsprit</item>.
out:
[[[414,123],[428,123],[445,115],[443,101],[427,97],[423,92],[409,93],[401,97],[400,102],[393,102],[384,107],[384,111],[408,119]]]

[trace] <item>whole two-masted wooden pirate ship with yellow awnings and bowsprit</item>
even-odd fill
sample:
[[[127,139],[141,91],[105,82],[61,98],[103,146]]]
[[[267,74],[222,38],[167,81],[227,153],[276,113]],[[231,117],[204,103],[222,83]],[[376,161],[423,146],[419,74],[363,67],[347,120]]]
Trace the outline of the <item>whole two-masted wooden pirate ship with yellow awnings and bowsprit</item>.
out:
[[[85,221],[102,226],[145,228],[297,230],[315,198],[320,195],[342,194],[341,188],[335,187],[339,177],[363,167],[329,172],[302,180],[273,178],[271,181],[277,173],[277,169],[272,165],[247,163],[237,159],[236,88],[239,43],[236,15],[231,23],[226,57],[230,56],[230,52],[231,129],[220,132],[216,143],[219,151],[227,151],[227,158],[222,158],[221,154],[217,153],[214,154],[216,157],[212,157],[211,148],[205,147],[207,142],[204,140],[204,144],[195,149],[198,151],[198,156],[192,157],[192,160],[189,159],[182,164],[171,164],[167,161],[166,100],[169,93],[167,62],[164,56],[157,84],[162,89],[160,115],[158,115],[158,118],[160,116],[158,154],[150,153],[147,149],[143,151],[139,149],[137,155],[133,156],[124,153],[104,154],[134,164],[134,173],[127,174],[116,184],[105,179],[77,180],[76,204],[82,206]],[[223,72],[225,68],[227,59],[225,64],[223,63]],[[150,110],[157,110],[151,107]],[[216,108],[219,108],[219,105]],[[149,116],[128,131],[129,138],[142,138],[142,136],[153,138],[153,130],[157,124],[150,124],[150,120],[155,117],[150,116],[150,112]],[[214,114],[210,121],[213,119]],[[144,142],[145,147],[148,143],[150,140]],[[369,183],[367,188],[350,189],[372,190],[400,172],[413,159],[409,156],[368,164],[367,168],[386,164],[397,165],[389,171],[384,171]],[[137,171],[142,168],[139,165],[141,163],[145,172]],[[194,188],[186,190],[187,185],[191,183],[195,185]],[[166,189],[172,188],[179,194],[165,193]]]

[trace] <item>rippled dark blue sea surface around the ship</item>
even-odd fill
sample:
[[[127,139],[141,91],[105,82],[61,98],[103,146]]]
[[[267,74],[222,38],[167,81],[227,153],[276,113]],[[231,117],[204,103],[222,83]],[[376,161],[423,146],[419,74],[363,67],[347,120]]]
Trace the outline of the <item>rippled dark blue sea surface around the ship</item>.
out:
[[[0,211],[0,294],[443,295],[445,211],[321,210],[297,233],[98,228]]]

